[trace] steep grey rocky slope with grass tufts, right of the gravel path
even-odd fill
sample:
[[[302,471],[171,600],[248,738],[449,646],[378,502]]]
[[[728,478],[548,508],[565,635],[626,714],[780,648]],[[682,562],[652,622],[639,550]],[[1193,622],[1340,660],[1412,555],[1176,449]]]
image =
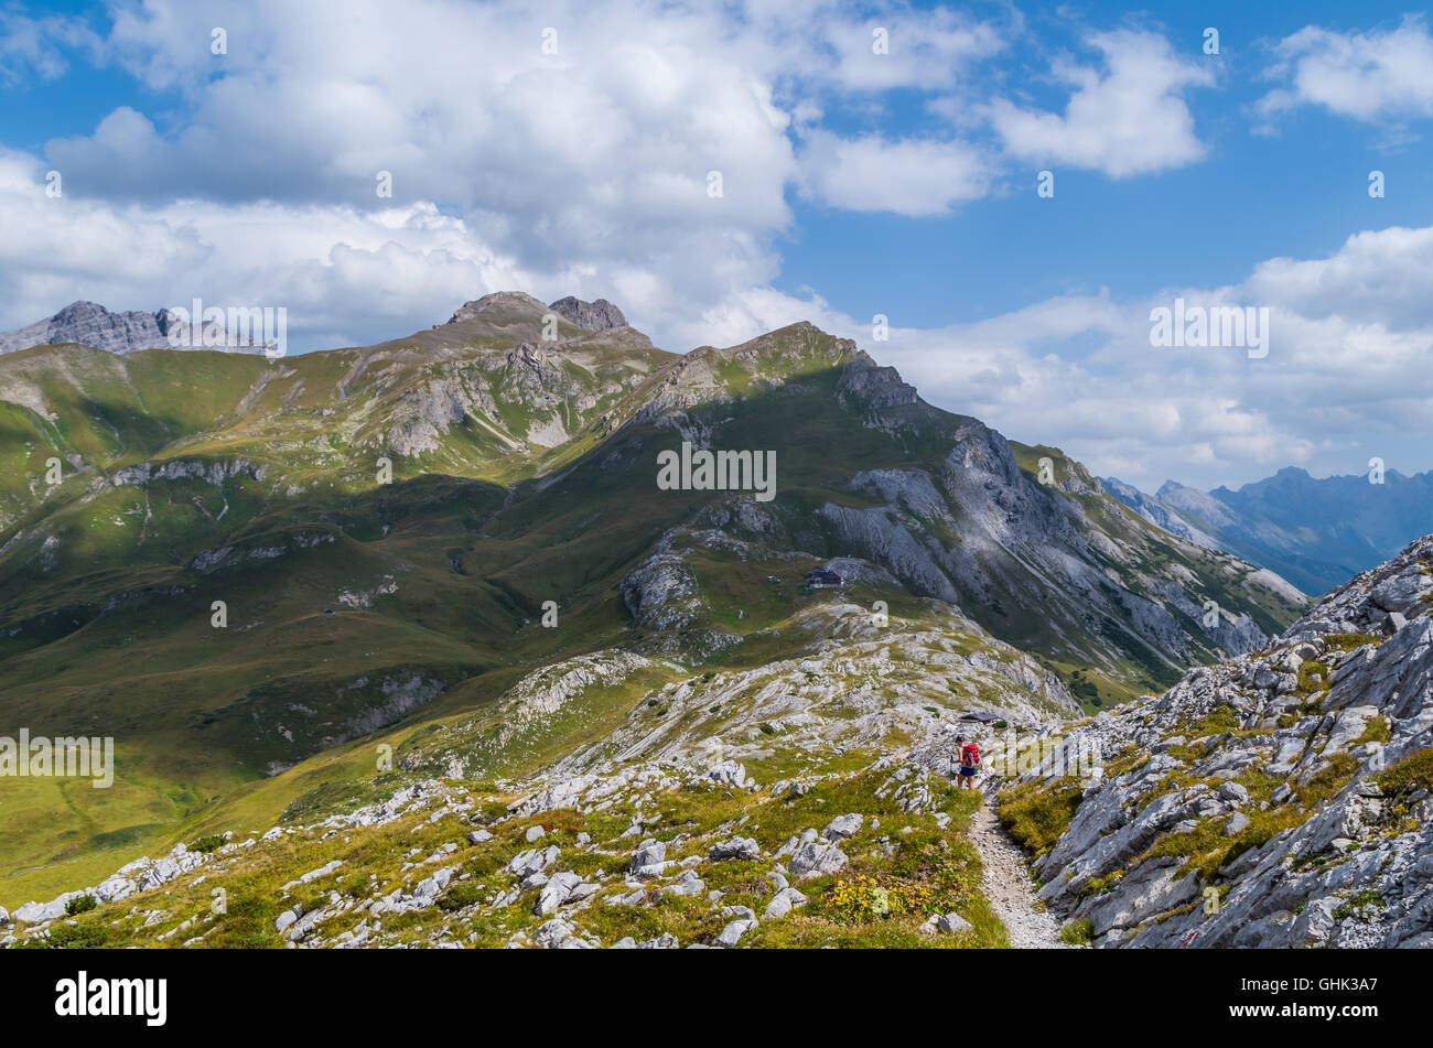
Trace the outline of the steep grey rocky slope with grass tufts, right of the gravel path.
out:
[[[1066,732],[1102,776],[1030,762],[1002,817],[1073,938],[1433,945],[1430,608],[1433,535],[1268,650]]]

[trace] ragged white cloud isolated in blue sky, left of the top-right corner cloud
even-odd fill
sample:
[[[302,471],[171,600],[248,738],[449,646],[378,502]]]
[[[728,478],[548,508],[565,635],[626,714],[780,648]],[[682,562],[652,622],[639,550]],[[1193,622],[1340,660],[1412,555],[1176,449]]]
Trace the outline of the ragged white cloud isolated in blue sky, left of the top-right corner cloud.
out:
[[[1199,59],[1182,59],[1155,33],[1116,30],[1088,43],[1105,72],[1069,62],[1056,73],[1075,87],[1065,113],[1022,109],[1007,99],[989,106],[1006,152],[1036,163],[1065,163],[1128,178],[1204,159],[1184,94],[1214,84]]]

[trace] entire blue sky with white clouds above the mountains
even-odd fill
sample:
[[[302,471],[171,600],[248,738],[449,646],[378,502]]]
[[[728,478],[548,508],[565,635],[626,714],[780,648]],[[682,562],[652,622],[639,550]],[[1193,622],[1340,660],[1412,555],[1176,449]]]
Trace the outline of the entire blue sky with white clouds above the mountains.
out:
[[[813,321],[1146,490],[1433,468],[1407,6],[0,0],[0,329],[605,296],[676,352]],[[1267,339],[1152,345],[1178,302]]]

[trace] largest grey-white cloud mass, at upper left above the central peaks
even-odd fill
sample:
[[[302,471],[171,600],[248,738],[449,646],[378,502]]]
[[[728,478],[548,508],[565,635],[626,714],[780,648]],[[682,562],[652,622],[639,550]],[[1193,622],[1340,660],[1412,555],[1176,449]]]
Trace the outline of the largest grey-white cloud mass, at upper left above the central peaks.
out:
[[[225,54],[211,52],[215,26]],[[797,159],[794,119],[818,120],[831,100],[866,106],[891,87],[949,89],[1003,42],[993,23],[898,3],[857,17],[824,0],[567,0],[540,13],[516,0],[414,0],[401,11],[378,0],[259,0],[222,14],[142,0],[113,11],[105,56],[181,103],[119,106],[44,155],[67,196],[96,212],[105,202],[110,223],[168,228],[183,200],[183,229],[205,241],[206,223],[259,203],[302,215],[312,239],[330,243],[307,245],[294,266],[353,262],[350,251],[377,251],[367,231],[380,213],[436,208],[467,238],[457,271],[470,256],[509,259],[535,288],[618,298],[669,338],[678,321],[777,276],[772,243],[791,228],[794,185],[834,208],[901,213],[983,192],[983,160],[959,143],[817,133],[811,149],[835,163],[813,172]],[[384,172],[391,198],[375,192]],[[438,251],[411,223],[390,241],[414,258]],[[17,298],[34,286],[21,281],[11,301],[42,301]],[[132,292],[116,305],[152,302]],[[357,316],[371,302],[345,306]]]

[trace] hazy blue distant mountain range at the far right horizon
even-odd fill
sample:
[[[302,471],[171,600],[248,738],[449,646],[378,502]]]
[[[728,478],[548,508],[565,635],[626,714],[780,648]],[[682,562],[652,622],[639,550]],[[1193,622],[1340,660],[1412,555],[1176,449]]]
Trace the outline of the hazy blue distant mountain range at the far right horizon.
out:
[[[1166,481],[1149,495],[1106,477],[1101,485],[1145,520],[1192,543],[1234,553],[1321,594],[1433,530],[1433,471],[1311,477],[1285,467],[1238,491]]]

